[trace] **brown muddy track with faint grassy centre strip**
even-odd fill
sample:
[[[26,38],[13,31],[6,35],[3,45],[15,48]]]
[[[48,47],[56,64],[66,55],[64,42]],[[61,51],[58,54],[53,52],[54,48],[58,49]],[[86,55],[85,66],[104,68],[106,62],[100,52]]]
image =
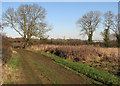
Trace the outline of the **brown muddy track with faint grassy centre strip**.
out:
[[[26,84],[88,84],[88,81],[39,53],[16,49]]]

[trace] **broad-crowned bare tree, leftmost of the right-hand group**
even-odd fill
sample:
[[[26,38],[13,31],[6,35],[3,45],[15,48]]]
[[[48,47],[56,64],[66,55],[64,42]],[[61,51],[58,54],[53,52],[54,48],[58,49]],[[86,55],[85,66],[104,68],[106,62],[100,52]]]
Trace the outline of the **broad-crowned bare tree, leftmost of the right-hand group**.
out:
[[[89,43],[92,43],[93,33],[97,29],[100,21],[101,13],[98,11],[90,11],[77,21],[77,24],[81,28],[81,32],[83,32],[81,34],[88,36]]]

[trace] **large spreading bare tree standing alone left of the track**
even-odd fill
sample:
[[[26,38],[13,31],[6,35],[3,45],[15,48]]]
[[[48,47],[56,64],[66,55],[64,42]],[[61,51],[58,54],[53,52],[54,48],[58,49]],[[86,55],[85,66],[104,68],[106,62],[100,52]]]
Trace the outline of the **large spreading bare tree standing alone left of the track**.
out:
[[[13,28],[23,37],[25,47],[32,37],[38,37],[40,32],[44,34],[44,28],[47,30],[47,24],[44,21],[45,16],[46,11],[41,6],[26,4],[21,5],[17,10],[9,8],[3,14],[3,23]],[[45,26],[43,27],[43,25]],[[42,31],[44,33],[42,33]]]

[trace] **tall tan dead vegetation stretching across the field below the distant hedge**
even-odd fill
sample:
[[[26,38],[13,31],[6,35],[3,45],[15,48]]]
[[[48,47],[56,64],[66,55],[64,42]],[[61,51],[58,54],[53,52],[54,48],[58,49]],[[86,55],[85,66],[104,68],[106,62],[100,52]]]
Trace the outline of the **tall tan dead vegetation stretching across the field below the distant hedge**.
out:
[[[41,50],[72,61],[118,62],[118,48],[101,48],[88,45],[33,45],[28,50]]]

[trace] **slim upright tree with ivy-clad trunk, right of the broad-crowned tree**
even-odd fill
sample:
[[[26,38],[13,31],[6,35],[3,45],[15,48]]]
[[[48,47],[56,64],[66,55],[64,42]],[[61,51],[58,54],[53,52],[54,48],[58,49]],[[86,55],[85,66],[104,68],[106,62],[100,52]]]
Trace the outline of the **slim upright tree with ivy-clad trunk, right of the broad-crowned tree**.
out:
[[[109,47],[109,41],[110,41],[110,29],[113,27],[113,18],[114,14],[111,11],[108,11],[104,14],[104,41],[105,41],[105,46]]]

